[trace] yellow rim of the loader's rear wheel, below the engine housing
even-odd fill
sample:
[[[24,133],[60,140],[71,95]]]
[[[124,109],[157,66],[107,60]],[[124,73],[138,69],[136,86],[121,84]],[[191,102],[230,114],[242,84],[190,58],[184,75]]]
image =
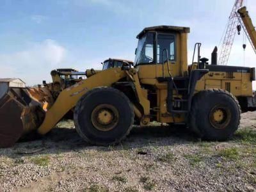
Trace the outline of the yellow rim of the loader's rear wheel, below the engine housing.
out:
[[[225,129],[229,124],[230,119],[230,109],[220,104],[214,106],[209,114],[210,123],[215,129]]]

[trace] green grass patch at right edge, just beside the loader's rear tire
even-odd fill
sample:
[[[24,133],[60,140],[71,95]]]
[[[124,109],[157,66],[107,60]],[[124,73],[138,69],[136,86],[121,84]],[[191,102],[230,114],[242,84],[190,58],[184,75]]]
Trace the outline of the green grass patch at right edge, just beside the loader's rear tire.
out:
[[[234,134],[234,139],[245,144],[256,144],[256,131],[250,128],[238,129]]]

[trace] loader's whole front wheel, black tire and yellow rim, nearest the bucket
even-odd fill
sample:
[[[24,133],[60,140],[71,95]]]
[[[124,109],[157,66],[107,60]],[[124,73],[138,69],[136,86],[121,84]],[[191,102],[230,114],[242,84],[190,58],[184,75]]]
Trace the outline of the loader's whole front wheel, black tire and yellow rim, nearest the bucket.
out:
[[[74,123],[78,134],[94,145],[119,143],[134,123],[130,100],[119,90],[94,88],[77,102]]]

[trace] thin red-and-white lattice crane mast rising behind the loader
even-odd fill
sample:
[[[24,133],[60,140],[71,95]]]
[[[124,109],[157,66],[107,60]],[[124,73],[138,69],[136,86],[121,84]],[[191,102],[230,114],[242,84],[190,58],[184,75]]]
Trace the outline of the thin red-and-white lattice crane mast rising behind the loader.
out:
[[[227,65],[230,51],[239,25],[237,10],[243,5],[243,0],[236,0],[230,16],[228,17],[227,31],[223,39],[218,65]]]

